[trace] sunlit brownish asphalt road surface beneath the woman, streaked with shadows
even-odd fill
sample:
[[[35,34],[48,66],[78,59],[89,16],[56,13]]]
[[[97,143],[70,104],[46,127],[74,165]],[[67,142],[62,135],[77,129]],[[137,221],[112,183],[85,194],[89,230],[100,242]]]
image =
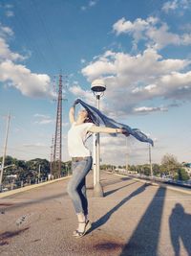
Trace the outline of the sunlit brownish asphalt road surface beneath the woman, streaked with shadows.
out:
[[[94,198],[87,181],[93,228],[79,239],[68,179],[0,199],[0,255],[191,255],[190,195],[102,173]]]

